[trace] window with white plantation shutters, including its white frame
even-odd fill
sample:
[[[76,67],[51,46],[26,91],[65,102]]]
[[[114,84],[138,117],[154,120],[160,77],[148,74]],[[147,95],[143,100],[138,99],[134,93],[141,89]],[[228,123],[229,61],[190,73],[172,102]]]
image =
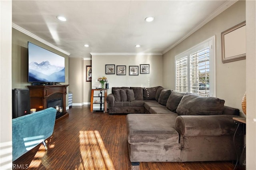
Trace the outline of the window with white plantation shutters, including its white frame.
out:
[[[175,56],[176,91],[215,96],[214,37]]]

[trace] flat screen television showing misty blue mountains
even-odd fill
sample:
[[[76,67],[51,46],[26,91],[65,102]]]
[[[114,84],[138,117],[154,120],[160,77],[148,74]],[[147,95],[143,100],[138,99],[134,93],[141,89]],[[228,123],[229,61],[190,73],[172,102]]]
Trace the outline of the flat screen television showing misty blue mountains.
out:
[[[65,82],[65,58],[28,42],[28,82]]]

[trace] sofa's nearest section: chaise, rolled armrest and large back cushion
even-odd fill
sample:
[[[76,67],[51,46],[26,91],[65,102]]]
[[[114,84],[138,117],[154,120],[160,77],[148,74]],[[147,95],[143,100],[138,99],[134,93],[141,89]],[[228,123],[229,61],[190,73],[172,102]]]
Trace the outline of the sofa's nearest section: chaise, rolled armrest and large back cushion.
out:
[[[139,162],[236,160],[233,136],[239,109],[216,97],[186,94],[176,113],[128,114],[127,142],[132,165]],[[236,144],[242,146],[238,130]],[[239,150],[240,149],[240,150]]]

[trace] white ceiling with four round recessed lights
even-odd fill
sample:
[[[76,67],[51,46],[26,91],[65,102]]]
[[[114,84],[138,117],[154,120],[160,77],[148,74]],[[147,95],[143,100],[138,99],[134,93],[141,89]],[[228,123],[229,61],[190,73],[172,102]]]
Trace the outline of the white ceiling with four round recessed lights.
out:
[[[90,53],[165,53],[236,1],[12,1],[14,28],[70,57]],[[56,16],[65,16],[60,22]],[[153,22],[145,22],[154,16]],[[90,47],[84,47],[84,44]],[[140,44],[141,47],[135,47]]]

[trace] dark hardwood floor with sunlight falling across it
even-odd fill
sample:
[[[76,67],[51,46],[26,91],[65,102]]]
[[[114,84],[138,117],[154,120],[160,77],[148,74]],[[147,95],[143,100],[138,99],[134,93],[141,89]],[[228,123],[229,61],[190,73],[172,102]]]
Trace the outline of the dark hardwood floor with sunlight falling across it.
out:
[[[55,124],[48,150],[42,144],[13,162],[14,169],[40,170],[232,170],[232,162],[141,162],[132,166],[126,144],[126,115],[90,113],[73,106]],[[35,122],[36,123],[36,122]],[[28,167],[28,168],[27,168]]]

